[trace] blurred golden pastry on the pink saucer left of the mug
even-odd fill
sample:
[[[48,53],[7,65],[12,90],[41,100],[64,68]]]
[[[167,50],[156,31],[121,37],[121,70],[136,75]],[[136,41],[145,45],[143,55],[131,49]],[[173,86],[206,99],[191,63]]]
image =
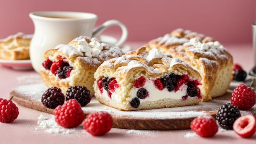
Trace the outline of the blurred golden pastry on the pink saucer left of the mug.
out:
[[[0,39],[0,58],[4,60],[29,59],[29,45],[32,35],[17,33]]]

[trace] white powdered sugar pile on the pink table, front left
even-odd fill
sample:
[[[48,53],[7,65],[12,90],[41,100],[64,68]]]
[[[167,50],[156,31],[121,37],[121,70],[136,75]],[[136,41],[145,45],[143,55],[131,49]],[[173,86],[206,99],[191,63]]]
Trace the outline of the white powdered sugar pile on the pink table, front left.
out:
[[[37,122],[38,126],[35,128],[36,132],[47,132],[50,134],[73,134],[73,133],[86,133],[86,130],[84,130],[81,126],[78,126],[76,128],[63,128],[60,125],[58,125],[55,120],[54,120],[54,116],[51,116],[50,118],[43,116],[43,114],[41,114],[38,117],[38,122]]]

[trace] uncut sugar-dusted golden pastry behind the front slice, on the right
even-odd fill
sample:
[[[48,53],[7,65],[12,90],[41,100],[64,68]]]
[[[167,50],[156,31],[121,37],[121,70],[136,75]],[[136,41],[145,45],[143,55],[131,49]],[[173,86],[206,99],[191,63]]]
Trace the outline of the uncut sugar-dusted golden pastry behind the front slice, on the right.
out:
[[[233,76],[233,58],[212,37],[179,28],[164,37],[151,40],[146,47],[158,48],[197,70],[202,77],[200,88],[203,100],[210,100],[227,92]]]

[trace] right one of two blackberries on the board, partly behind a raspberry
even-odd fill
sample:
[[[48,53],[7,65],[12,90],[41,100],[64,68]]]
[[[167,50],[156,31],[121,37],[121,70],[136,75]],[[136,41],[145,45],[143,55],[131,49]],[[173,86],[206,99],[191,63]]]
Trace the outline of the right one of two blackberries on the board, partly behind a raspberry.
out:
[[[66,100],[75,99],[81,107],[91,101],[91,92],[85,86],[70,86],[66,92]]]

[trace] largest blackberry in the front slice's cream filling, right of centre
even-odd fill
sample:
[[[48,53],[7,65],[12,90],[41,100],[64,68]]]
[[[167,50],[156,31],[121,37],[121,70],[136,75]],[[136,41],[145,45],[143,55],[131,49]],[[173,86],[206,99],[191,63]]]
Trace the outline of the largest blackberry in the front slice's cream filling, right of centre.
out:
[[[176,87],[176,74],[169,72],[161,79],[163,85],[167,88],[168,91],[173,91]]]

